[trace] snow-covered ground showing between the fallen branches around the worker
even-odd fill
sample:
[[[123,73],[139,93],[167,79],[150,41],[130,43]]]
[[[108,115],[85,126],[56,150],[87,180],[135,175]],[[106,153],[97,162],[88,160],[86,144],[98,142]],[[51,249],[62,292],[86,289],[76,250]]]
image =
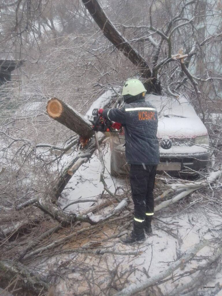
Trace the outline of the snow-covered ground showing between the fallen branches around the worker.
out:
[[[110,164],[110,151],[109,149],[105,154],[105,165],[109,171]],[[92,158],[90,163],[82,165],[82,167],[77,171],[69,182],[69,189],[65,190],[65,199],[60,199],[59,203],[61,207],[64,207],[68,203],[78,200],[78,199],[88,199],[95,198],[98,194],[103,191],[103,185],[99,182],[101,171],[100,160],[96,155]],[[129,186],[127,179],[111,178],[106,171],[106,183],[109,189],[114,192],[116,186]],[[158,186],[158,184],[157,184]],[[198,194],[196,194],[198,196]],[[196,197],[195,197],[196,198]],[[191,205],[192,201],[190,202]],[[79,212],[88,208],[91,203],[78,203],[71,205],[67,208],[67,211]],[[132,204],[131,204],[132,207]],[[188,208],[188,210],[187,210]],[[124,215],[126,212],[121,213]],[[76,266],[76,264],[82,264],[87,266],[87,268],[93,268],[96,277],[96,283],[102,287],[105,282],[109,281],[110,274],[105,272],[107,268],[109,270],[114,270],[118,266],[118,271],[124,274],[125,271],[133,271],[128,278],[127,283],[139,283],[147,279],[148,276],[155,276],[164,271],[170,266],[175,260],[177,260],[180,255],[186,252],[189,247],[198,243],[203,238],[214,239],[218,236],[217,229],[221,227],[221,218],[217,213],[216,209],[212,208],[209,210],[208,207],[198,207],[192,205],[184,206],[176,203],[170,207],[164,208],[161,211],[155,213],[155,216],[162,220],[162,222],[153,219],[153,234],[147,237],[146,241],[140,244],[134,244],[132,246],[121,244],[118,238],[109,239],[109,236],[115,233],[112,226],[106,227],[106,229],[99,231],[95,236],[89,236],[84,240],[77,243],[69,244],[69,248],[84,247],[85,245],[92,242],[101,242],[101,246],[96,247],[96,249],[111,250],[113,252],[135,252],[136,255],[95,255],[95,254],[76,254],[75,252],[67,255],[62,254],[61,256],[56,256],[53,260],[53,264],[56,266],[62,264],[63,261],[68,260],[69,268],[71,266]],[[163,223],[164,222],[164,223]],[[118,226],[118,223],[117,223]],[[120,226],[121,228],[121,226]],[[213,229],[211,231],[210,229]],[[122,228],[122,233],[130,232],[132,226],[127,226],[127,229]],[[215,230],[215,231],[214,231]],[[67,247],[66,247],[67,248]],[[183,274],[186,271],[190,271],[192,268],[197,267],[205,263],[204,259],[201,260],[202,256],[207,256],[212,252],[211,247],[204,247],[200,252],[197,253],[197,258],[200,260],[192,260],[191,263],[186,264],[182,268],[176,270],[172,279],[169,279],[166,283],[159,284],[161,292],[163,295],[171,295],[176,287],[184,285],[191,280],[190,276],[183,276],[181,279],[177,279],[179,274]],[[134,270],[135,269],[135,270]],[[88,274],[88,269],[85,271]],[[88,290],[87,281],[84,284],[82,282],[81,286],[76,279],[82,278],[80,271],[74,271],[69,274],[69,281],[63,280],[59,281],[57,286],[57,291],[59,295],[68,296],[73,295],[72,291],[80,293],[80,291]],[[205,283],[204,286],[215,286],[217,282],[222,281],[222,275],[220,272],[215,274],[211,282]],[[91,287],[96,295],[98,289],[97,285]],[[99,293],[98,289],[98,293]],[[114,290],[113,293],[114,294]],[[77,293],[77,295],[78,295]],[[111,295],[112,295],[111,294]],[[102,294],[99,294],[102,295]],[[143,295],[143,294],[141,294]],[[145,295],[145,294],[144,294]],[[217,294],[222,295],[222,294]]]

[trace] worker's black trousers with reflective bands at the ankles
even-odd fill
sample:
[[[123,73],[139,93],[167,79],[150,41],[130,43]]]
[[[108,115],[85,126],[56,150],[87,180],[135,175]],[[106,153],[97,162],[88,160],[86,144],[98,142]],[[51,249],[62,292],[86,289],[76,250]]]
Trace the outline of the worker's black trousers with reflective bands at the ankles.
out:
[[[135,219],[144,220],[146,214],[153,214],[153,188],[156,168],[157,165],[130,165],[129,179],[134,202]]]

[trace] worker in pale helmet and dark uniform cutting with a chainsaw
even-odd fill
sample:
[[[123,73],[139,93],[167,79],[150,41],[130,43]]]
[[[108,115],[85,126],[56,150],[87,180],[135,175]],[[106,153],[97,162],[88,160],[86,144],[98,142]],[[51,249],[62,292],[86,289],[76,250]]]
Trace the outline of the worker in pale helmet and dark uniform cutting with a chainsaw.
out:
[[[133,244],[145,240],[144,231],[152,232],[154,211],[153,188],[159,163],[157,139],[157,110],[145,101],[146,89],[138,79],[126,81],[122,90],[125,104],[122,108],[99,109],[103,117],[121,123],[125,132],[129,179],[134,202],[132,233],[121,242]]]

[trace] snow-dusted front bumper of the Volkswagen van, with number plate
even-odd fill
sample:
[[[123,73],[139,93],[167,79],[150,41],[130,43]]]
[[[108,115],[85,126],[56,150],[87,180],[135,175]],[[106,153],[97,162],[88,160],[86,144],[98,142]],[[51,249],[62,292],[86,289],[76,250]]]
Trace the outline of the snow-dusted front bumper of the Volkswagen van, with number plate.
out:
[[[168,150],[160,148],[160,163],[158,171],[172,171],[192,174],[194,171],[204,169],[208,165],[209,150],[205,147],[174,147]],[[114,147],[111,151],[113,169],[119,174],[129,171],[125,148],[122,145]]]

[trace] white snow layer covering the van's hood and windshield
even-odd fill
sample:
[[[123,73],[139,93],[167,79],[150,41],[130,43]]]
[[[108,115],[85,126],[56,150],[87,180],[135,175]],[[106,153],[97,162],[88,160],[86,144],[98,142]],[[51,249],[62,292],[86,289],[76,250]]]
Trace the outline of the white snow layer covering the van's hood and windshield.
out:
[[[195,138],[207,135],[207,129],[197,116],[192,105],[183,96],[179,99],[147,94],[145,101],[150,102],[158,112],[158,138]]]

